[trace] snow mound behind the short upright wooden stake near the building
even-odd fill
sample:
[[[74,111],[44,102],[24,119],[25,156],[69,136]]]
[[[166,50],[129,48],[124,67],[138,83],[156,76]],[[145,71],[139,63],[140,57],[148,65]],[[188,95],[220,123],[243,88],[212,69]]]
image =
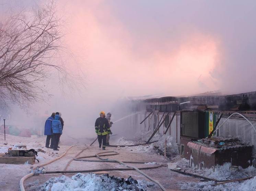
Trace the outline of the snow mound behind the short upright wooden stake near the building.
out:
[[[167,136],[167,135],[163,135],[161,136],[157,142],[154,142],[153,145],[155,147],[159,147],[159,149],[161,151],[164,151],[164,147],[165,147],[165,139],[166,139],[166,153],[178,153],[178,146],[176,144],[176,140],[171,137],[171,136]]]

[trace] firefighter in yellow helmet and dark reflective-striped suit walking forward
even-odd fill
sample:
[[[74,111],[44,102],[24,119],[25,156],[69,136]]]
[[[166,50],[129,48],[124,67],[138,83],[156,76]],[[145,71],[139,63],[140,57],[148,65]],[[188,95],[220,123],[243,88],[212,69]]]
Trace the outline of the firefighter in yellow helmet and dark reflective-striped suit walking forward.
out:
[[[106,137],[107,134],[110,132],[110,127],[104,111],[100,112],[100,117],[97,118],[95,121],[95,132],[98,136],[99,148],[101,148],[102,144],[102,149],[105,150]]]

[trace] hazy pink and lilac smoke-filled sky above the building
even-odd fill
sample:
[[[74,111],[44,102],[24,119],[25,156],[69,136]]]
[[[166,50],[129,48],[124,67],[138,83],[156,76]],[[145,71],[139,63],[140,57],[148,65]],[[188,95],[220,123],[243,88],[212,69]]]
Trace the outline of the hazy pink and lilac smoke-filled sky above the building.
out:
[[[3,14],[42,1],[2,2]],[[256,90],[256,1],[57,2],[86,88],[69,97],[51,90],[49,111],[91,119],[124,96]]]

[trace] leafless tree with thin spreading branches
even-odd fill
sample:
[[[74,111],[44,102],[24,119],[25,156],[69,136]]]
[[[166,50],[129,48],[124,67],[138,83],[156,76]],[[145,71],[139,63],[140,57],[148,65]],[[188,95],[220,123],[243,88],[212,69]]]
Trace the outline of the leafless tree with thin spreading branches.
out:
[[[0,96],[22,103],[42,99],[42,85],[53,70],[65,76],[65,65],[56,58],[62,47],[62,21],[50,1],[30,12],[21,12],[0,23]],[[61,78],[61,76],[60,76]]]

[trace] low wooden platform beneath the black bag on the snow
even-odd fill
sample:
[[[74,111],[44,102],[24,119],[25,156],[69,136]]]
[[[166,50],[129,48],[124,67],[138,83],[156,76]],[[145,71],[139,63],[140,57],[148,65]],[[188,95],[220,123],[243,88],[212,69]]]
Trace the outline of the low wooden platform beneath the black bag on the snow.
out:
[[[34,156],[10,156],[8,154],[0,154],[0,164],[34,164]]]

